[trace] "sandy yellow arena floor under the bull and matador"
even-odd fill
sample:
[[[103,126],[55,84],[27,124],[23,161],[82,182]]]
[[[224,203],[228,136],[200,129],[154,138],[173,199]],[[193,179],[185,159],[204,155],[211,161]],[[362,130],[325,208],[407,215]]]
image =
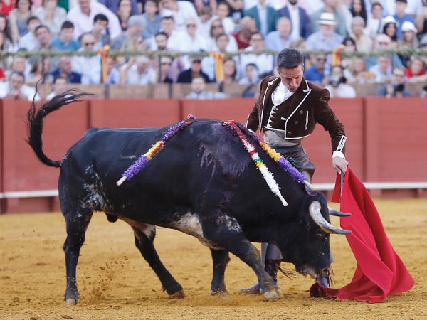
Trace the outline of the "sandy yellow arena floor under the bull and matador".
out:
[[[209,249],[189,235],[158,228],[155,244],[164,265],[184,287],[185,299],[168,299],[137,251],[132,230],[94,215],[78,264],[77,306],[66,306],[65,223],[60,213],[0,215],[0,319],[427,319],[427,200],[376,200],[394,249],[416,280],[409,292],[380,304],[310,298],[313,280],[279,274],[284,297],[267,301],[238,288],[255,274],[231,255],[230,294],[211,297]],[[335,204],[334,208],[338,208]],[[338,225],[338,218],[332,223]],[[331,237],[335,281],[348,284],[356,262],[344,236]],[[285,269],[293,270],[292,265]]]

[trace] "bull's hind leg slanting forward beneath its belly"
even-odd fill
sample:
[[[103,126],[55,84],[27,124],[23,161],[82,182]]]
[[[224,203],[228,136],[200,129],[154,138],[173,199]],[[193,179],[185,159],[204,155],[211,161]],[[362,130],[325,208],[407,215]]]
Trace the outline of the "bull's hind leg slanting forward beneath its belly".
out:
[[[184,290],[181,284],[176,282],[172,274],[164,267],[162,261],[157,255],[154,248],[154,237],[156,236],[156,229],[153,225],[132,225],[135,234],[135,245],[142,254],[142,257],[148,262],[149,266],[159,277],[162,282],[163,291],[169,294],[172,298],[184,298]]]

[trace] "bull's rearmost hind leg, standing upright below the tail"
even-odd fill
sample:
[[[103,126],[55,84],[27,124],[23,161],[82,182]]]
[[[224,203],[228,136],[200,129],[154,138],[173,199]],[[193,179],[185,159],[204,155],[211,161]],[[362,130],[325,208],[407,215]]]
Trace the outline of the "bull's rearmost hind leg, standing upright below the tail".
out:
[[[69,211],[71,212],[71,211]],[[88,228],[93,210],[73,211],[73,214],[64,213],[67,224],[67,238],[63,250],[65,252],[65,267],[67,269],[67,289],[65,290],[65,303],[74,305],[79,302],[80,294],[77,289],[76,269],[80,248],[85,242],[85,233]]]

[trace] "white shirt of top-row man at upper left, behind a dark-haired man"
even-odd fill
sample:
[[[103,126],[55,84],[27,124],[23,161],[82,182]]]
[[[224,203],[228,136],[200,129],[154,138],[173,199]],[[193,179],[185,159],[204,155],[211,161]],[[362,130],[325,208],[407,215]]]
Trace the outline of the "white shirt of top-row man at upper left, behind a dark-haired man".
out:
[[[74,24],[74,38],[77,39],[82,33],[90,32],[93,29],[93,18],[97,14],[105,14],[108,18],[108,30],[110,38],[114,39],[122,33],[119,18],[103,4],[90,2],[90,14],[87,16],[80,10],[80,6],[75,6],[68,11],[67,20]]]

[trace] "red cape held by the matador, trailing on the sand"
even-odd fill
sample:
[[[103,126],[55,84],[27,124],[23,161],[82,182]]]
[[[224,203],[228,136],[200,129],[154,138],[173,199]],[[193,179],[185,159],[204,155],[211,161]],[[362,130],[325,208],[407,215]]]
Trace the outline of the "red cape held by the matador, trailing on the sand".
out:
[[[357,268],[352,282],[345,287],[331,289],[315,283],[310,289],[311,296],[375,303],[384,301],[389,294],[408,291],[415,282],[391,246],[364,184],[348,168],[340,201],[340,183],[341,176],[337,174],[332,201],[341,203],[342,212],[352,214],[341,219],[341,227],[352,230],[346,237]]]

